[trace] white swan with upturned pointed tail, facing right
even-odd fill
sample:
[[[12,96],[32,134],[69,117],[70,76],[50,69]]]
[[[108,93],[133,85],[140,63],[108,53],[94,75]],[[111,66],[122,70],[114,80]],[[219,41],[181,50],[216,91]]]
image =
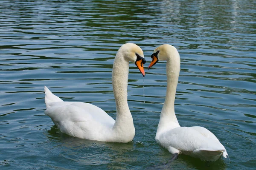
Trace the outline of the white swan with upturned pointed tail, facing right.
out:
[[[145,76],[143,51],[133,43],[122,45],[115,57],[112,71],[113,93],[116,101],[116,121],[95,105],[84,102],[64,102],[44,86],[47,116],[62,133],[70,136],[103,141],[132,141],[135,128],[127,102],[129,61],[135,63]]]

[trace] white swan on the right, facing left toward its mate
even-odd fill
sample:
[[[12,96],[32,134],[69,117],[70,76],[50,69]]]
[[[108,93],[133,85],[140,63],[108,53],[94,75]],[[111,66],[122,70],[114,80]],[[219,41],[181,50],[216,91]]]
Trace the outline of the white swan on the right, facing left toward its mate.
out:
[[[155,139],[173,154],[174,160],[181,153],[203,161],[216,161],[221,155],[227,158],[225,147],[216,136],[204,127],[180,127],[175,116],[174,101],[180,73],[180,55],[172,45],[160,45],[151,55],[152,62],[166,60],[167,91]]]

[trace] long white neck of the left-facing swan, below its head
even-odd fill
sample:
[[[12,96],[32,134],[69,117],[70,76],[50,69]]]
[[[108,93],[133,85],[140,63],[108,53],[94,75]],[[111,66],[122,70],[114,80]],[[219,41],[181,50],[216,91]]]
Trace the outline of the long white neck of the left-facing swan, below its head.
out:
[[[180,57],[178,53],[176,55],[178,55],[178,57],[168,57],[166,63],[166,99],[161,111],[156,139],[158,139],[160,133],[163,133],[166,130],[171,130],[175,127],[180,127],[174,110],[175,94],[180,74]]]

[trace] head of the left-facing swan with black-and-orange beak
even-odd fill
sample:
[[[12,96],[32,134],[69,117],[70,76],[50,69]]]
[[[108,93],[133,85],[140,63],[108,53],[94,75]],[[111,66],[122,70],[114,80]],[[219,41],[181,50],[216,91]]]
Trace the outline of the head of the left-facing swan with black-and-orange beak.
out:
[[[166,61],[171,57],[176,57],[178,54],[177,49],[169,44],[163,44],[157,47],[151,55],[151,63],[148,69],[155,65],[158,61]]]

